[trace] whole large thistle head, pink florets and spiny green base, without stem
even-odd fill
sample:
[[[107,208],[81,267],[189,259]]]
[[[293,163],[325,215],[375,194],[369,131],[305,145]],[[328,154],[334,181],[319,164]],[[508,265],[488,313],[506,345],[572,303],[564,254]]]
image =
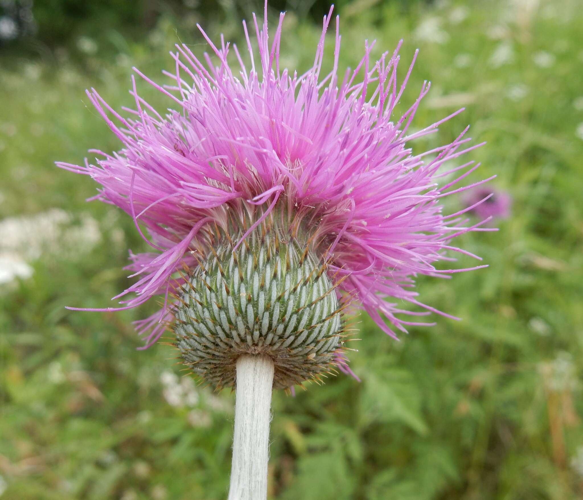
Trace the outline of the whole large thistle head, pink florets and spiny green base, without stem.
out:
[[[480,227],[486,221],[467,224],[462,214],[472,207],[442,214],[442,198],[489,180],[454,186],[479,166],[449,166],[477,147],[466,146],[468,129],[431,151],[409,146],[461,110],[408,134],[425,82],[412,106],[392,117],[417,53],[399,82],[401,44],[373,62],[374,43],[365,42],[356,69],[340,76],[336,17],[332,71],[322,78],[331,9],[314,65],[298,75],[280,67],[284,15],[269,40],[266,11],[262,26],[253,16],[258,58],[243,23],[250,64],[236,45],[231,51],[221,38],[217,47],[201,29],[214,55],[201,61],[177,45],[175,72],[165,72],[171,86],[134,68],[174,101],[165,116],[138,96],[133,76],[131,118],[88,91],[123,148],[92,150],[97,165],[58,163],[97,181],[94,198],[130,214],[154,249],[130,254],[138,280],[115,297],[127,297],[118,309],[161,295],[163,309],[137,321],[145,347],[173,324],[184,363],[216,386],[233,383],[234,361],[245,352],[272,356],[277,387],[317,377],[335,361],[348,370],[340,313],[349,302],[395,338],[395,330],[424,324],[402,316],[453,317],[417,300],[413,277],[484,267],[434,264],[453,260],[447,250],[476,257],[449,241],[491,230]],[[439,186],[445,176],[454,179]]]

